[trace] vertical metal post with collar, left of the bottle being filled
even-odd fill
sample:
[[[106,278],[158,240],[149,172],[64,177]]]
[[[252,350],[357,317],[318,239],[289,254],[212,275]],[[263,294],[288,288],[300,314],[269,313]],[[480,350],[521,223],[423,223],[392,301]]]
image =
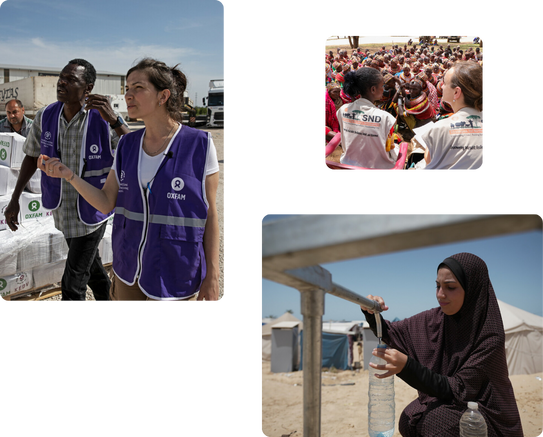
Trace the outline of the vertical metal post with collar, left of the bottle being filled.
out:
[[[322,289],[301,291],[304,321],[304,437],[321,435]]]

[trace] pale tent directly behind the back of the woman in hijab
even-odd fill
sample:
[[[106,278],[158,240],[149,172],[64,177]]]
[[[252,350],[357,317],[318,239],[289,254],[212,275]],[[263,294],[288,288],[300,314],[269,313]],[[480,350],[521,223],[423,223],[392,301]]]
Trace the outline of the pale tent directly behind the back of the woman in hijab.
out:
[[[498,300],[509,375],[543,372],[543,317]]]

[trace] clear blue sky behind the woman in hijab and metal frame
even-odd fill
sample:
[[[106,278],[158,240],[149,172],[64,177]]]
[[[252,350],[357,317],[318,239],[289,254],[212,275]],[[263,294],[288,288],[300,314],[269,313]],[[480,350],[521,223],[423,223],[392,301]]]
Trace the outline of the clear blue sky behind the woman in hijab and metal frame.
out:
[[[291,214],[289,214],[291,215]],[[270,213],[262,222],[278,219]],[[382,296],[390,307],[383,317],[403,319],[437,307],[436,269],[446,257],[470,252],[482,258],[498,299],[543,316],[543,232],[525,232],[503,237],[402,251],[375,257],[323,264],[332,280],[363,296]],[[260,279],[260,317],[280,316],[291,309],[300,314],[300,293]],[[325,300],[323,320],[365,320],[357,305],[332,295]]]

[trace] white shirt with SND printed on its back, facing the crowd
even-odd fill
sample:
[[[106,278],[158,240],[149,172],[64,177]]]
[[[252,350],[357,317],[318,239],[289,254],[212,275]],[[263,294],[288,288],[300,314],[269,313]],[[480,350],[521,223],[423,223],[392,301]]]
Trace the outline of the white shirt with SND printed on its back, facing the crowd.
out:
[[[366,99],[358,99],[337,111],[343,154],[340,162],[366,168],[393,168],[398,158],[386,151],[386,140],[396,119]]]

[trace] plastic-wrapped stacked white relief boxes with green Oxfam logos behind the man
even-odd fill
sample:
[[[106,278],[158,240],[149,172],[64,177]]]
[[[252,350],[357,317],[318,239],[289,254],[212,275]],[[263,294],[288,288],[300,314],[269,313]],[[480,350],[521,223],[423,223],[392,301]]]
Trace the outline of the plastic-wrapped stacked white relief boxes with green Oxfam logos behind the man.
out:
[[[0,134],[0,297],[25,294],[60,282],[68,254],[68,245],[62,232],[55,228],[52,211],[42,205],[40,170],[19,199],[19,229],[12,232],[6,224],[4,210],[19,176],[24,141],[18,134]],[[112,259],[111,221],[100,243],[104,263]]]

